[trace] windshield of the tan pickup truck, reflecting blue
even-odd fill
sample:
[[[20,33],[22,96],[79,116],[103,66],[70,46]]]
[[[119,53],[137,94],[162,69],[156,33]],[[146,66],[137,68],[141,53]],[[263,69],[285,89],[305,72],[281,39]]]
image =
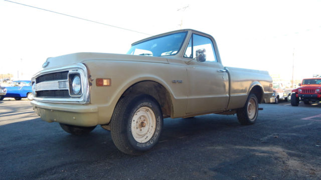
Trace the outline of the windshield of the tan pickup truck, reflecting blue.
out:
[[[187,32],[179,32],[140,42],[131,46],[127,54],[149,56],[174,55],[180,50],[186,34]]]

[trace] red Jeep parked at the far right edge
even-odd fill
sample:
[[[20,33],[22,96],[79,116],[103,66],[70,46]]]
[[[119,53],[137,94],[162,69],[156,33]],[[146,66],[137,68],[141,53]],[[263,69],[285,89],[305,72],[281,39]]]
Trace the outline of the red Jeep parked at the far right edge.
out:
[[[299,101],[310,104],[310,101],[321,101],[321,78],[307,78],[299,83],[299,87],[292,90],[291,105],[298,106]]]

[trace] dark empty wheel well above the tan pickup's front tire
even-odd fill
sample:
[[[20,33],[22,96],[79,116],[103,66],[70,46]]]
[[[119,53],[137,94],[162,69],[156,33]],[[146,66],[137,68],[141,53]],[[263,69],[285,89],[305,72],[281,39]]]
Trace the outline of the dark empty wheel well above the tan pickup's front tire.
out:
[[[148,94],[155,98],[162,108],[164,117],[172,114],[173,105],[169,91],[155,81],[140,81],[130,86],[121,96]]]

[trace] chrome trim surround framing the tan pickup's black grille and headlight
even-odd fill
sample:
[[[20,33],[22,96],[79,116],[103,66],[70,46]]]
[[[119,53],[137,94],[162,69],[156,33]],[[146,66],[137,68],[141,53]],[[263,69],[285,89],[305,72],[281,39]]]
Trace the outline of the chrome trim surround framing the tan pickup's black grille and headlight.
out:
[[[54,67],[50,69],[45,69],[42,70],[38,73],[36,73],[32,77],[32,82],[36,82],[36,87],[37,91],[39,90],[66,90],[68,89],[69,94],[70,94],[70,89],[69,89],[69,75],[67,76],[67,79],[61,79],[61,80],[52,80],[52,81],[45,81],[45,82],[40,82],[37,84],[36,78],[40,75],[47,74],[47,73],[52,73],[52,72],[60,72],[60,71],[69,71],[71,72],[79,72],[80,73],[80,79],[81,79],[81,88],[82,88],[82,94],[78,96],[70,96],[66,98],[48,98],[48,97],[34,97],[34,100],[40,101],[40,102],[57,102],[57,103],[82,103],[86,104],[90,102],[90,93],[89,93],[89,82],[88,82],[88,73],[87,73],[87,68],[84,64],[78,63],[78,64],[73,64],[73,65],[68,65],[68,66],[60,66],[60,67]],[[66,88],[59,88],[59,82],[61,81],[66,81],[68,83]],[[49,84],[48,86],[52,86],[52,89],[49,88],[40,88],[42,86],[46,86],[46,84]],[[54,87],[55,85],[58,85]]]

